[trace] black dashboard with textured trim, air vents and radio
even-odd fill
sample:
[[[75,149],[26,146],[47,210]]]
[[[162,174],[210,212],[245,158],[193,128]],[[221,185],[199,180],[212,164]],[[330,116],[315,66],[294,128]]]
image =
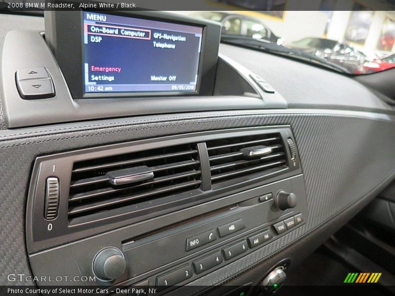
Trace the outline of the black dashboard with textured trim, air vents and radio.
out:
[[[42,17],[0,18],[1,285],[48,285],[17,272],[225,295],[212,287],[292,272],[395,177],[394,107],[352,76],[218,47],[219,26],[194,20],[211,47],[192,93],[86,96],[64,36],[51,43]],[[44,97],[23,98],[44,81]]]

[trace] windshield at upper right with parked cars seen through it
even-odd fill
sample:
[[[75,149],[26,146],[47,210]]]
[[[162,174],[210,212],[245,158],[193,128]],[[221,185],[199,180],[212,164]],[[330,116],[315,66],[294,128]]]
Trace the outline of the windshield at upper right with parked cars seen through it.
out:
[[[183,13],[221,23],[224,43],[303,59],[347,74],[395,68],[395,11],[374,11],[357,3],[351,11],[330,10],[339,0],[322,0],[316,11],[286,11],[289,1],[263,0],[259,3],[266,6],[256,7],[258,1],[220,0],[227,8],[262,10]]]

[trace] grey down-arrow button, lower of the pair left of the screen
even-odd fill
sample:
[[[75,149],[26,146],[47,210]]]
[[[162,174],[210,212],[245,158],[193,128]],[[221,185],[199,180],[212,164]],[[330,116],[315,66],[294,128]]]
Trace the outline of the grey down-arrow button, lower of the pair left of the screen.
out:
[[[55,96],[51,79],[18,81],[18,91],[22,99],[45,99]]]

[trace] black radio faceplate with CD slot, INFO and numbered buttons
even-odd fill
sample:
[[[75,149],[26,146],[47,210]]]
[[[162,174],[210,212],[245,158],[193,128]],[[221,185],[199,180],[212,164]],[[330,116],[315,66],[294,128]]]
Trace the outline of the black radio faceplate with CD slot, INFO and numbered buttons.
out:
[[[279,210],[276,206],[279,191],[294,193],[296,206]],[[206,209],[207,214],[181,221],[158,217],[32,254],[33,273],[38,277],[48,272],[69,277],[95,276],[92,262],[96,255],[112,247],[120,250],[124,257],[123,274],[114,281],[96,279],[87,284],[182,285],[270,244],[308,219],[302,174],[176,213],[189,217],[187,212],[197,208]],[[63,264],[64,258],[69,258],[67,266]]]

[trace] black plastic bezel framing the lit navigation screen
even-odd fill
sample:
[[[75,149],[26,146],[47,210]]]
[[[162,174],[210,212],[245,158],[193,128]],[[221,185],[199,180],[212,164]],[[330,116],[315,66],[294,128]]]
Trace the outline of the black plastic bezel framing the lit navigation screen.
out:
[[[45,14],[45,36],[65,77],[73,99],[130,98],[163,96],[207,96],[213,94],[218,48],[221,34],[219,23],[191,19],[161,11],[87,10],[104,14],[149,19],[202,28],[196,91],[158,92],[95,92],[85,93],[83,83],[83,10],[48,11]],[[70,54],[72,53],[72,55]]]

